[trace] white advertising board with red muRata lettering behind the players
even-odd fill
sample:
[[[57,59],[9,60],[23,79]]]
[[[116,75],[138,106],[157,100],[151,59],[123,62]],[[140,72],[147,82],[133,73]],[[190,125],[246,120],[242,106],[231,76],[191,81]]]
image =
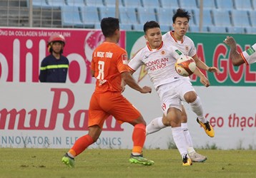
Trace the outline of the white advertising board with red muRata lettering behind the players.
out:
[[[255,88],[196,86],[195,89],[207,120],[215,128],[215,137],[205,134],[196,122],[195,113],[184,103],[194,146],[255,149]],[[78,137],[87,134],[87,112],[93,91],[94,84],[1,83],[0,147],[72,147]],[[127,87],[124,95],[142,112],[147,123],[162,116],[154,90],[151,94],[141,94]],[[99,140],[90,148],[132,149],[132,130],[132,125],[119,125],[110,117]],[[172,132],[167,127],[148,135],[145,148],[168,149],[170,142]]]

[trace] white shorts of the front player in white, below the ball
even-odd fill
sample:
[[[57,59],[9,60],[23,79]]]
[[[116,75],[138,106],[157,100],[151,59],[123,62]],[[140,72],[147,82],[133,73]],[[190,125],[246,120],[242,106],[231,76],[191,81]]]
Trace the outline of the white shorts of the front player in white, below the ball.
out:
[[[184,94],[189,91],[195,91],[195,88],[193,88],[192,83],[186,79],[179,79],[172,83],[160,85],[159,88],[157,88],[157,93],[161,100],[164,115],[167,115],[169,108],[182,110]]]

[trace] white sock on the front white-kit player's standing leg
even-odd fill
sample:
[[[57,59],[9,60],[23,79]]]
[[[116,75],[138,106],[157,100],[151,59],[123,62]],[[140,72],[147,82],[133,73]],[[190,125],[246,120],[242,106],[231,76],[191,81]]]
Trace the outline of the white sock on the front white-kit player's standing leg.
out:
[[[177,149],[179,150],[179,154],[182,155],[187,154],[187,147],[186,147],[186,139],[182,134],[182,127],[172,127],[172,137],[175,142]]]

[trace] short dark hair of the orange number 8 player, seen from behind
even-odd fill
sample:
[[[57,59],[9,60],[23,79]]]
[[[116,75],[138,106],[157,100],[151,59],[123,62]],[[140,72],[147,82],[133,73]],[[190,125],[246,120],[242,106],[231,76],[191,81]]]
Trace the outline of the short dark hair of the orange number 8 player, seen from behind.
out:
[[[100,27],[102,28],[102,33],[105,37],[113,36],[114,31],[119,29],[119,19],[114,17],[103,18]]]

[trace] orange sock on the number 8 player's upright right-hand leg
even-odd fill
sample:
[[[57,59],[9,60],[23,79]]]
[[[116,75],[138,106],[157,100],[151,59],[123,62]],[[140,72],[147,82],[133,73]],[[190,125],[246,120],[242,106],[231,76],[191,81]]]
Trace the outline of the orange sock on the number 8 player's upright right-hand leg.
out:
[[[134,130],[132,133],[133,140],[133,148],[132,152],[137,152],[139,154],[142,153],[142,148],[144,146],[144,142],[146,140],[146,125],[137,124],[134,126]]]

